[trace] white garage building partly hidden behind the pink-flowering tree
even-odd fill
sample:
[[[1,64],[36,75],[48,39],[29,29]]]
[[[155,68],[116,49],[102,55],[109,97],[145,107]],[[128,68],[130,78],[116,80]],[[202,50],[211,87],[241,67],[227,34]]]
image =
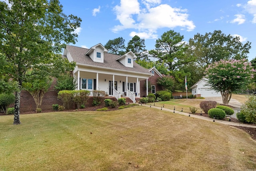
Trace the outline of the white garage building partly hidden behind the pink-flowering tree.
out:
[[[203,77],[201,80],[196,82],[190,89],[192,94],[196,97],[221,97],[220,92],[216,92],[210,86],[205,85],[207,78]]]

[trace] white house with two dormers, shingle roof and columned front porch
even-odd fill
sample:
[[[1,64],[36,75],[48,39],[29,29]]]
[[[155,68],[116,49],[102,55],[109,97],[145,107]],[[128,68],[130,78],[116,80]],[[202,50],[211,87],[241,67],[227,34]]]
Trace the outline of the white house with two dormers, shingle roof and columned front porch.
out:
[[[135,97],[141,97],[140,81],[146,80],[148,86],[152,73],[134,62],[137,57],[132,51],[123,56],[107,52],[102,44],[90,49],[67,45],[63,58],[76,62],[73,76],[77,89],[101,90],[116,99],[123,96],[135,102]]]

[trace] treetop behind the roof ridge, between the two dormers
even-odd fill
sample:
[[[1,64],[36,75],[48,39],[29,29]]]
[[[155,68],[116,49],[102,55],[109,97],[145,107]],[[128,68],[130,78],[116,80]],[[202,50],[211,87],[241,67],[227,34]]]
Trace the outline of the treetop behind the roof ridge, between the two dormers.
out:
[[[122,37],[115,38],[114,40],[108,40],[105,44],[105,48],[110,54],[124,55],[124,45],[125,40]]]

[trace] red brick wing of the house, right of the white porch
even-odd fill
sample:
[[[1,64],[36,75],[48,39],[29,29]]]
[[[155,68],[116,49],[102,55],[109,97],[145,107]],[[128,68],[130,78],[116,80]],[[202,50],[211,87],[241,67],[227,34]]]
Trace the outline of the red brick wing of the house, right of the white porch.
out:
[[[156,70],[156,68],[149,69],[152,76],[148,78],[148,85],[151,85],[151,91],[148,93],[156,94],[156,91],[163,90],[160,85],[157,84],[157,79],[162,78],[162,74]],[[140,97],[146,97],[146,80],[140,81]]]

